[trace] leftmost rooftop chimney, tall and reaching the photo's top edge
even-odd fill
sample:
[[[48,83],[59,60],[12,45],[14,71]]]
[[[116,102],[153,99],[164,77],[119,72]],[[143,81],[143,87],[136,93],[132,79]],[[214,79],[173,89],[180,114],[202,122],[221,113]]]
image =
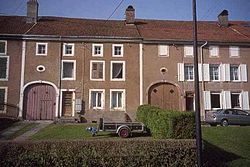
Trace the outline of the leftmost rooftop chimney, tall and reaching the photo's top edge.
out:
[[[37,0],[28,0],[26,23],[36,23],[38,20],[38,2]]]

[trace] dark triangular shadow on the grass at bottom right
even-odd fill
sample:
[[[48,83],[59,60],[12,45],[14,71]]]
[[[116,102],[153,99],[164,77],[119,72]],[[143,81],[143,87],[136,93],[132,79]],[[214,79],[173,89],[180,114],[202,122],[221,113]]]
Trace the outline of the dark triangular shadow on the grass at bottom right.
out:
[[[204,167],[217,167],[228,166],[227,163],[240,159],[242,157],[227,152],[211,143],[204,141],[205,150],[203,152],[203,166]]]

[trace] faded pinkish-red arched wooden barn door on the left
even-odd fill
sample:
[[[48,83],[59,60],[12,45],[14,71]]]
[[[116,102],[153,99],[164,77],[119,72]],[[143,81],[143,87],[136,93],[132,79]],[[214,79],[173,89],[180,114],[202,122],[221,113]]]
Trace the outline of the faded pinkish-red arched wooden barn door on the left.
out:
[[[24,91],[24,115],[26,120],[53,120],[56,110],[56,91],[53,86],[36,83]]]

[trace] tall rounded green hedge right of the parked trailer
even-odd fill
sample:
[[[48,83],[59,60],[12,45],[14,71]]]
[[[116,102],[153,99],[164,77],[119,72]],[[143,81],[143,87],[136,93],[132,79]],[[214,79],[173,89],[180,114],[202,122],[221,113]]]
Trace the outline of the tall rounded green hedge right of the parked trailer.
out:
[[[154,138],[195,138],[195,114],[174,110],[163,110],[150,105],[138,107],[137,121],[143,122]]]

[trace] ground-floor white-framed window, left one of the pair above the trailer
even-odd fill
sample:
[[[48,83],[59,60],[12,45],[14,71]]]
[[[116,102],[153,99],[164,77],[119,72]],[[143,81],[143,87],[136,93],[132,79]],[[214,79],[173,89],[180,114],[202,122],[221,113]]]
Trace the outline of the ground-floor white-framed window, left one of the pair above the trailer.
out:
[[[90,109],[104,108],[104,89],[90,89],[89,91],[89,107]]]

